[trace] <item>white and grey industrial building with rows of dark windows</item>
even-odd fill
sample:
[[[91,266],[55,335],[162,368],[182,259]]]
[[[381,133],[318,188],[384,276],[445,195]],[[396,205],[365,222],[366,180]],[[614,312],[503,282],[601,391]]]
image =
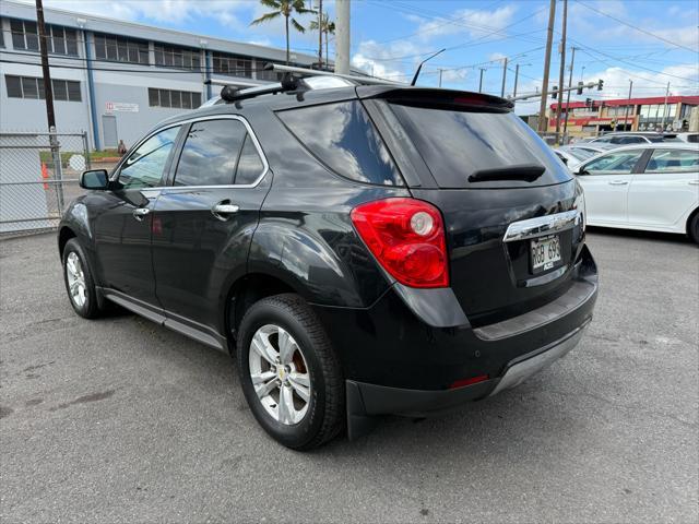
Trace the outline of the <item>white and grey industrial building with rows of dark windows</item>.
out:
[[[285,51],[82,13],[45,9],[59,132],[87,131],[96,150],[127,146],[165,118],[198,107],[223,80],[251,85],[277,79],[265,62]],[[36,10],[0,2],[0,132],[45,131]],[[310,55],[292,55],[308,67]]]

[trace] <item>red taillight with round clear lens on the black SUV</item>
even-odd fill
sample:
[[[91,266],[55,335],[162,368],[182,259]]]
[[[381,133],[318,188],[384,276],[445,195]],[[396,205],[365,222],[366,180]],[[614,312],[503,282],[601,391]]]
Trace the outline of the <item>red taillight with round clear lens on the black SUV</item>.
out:
[[[434,205],[414,199],[386,199],[352,210],[352,222],[379,263],[411,287],[447,287],[445,225]]]

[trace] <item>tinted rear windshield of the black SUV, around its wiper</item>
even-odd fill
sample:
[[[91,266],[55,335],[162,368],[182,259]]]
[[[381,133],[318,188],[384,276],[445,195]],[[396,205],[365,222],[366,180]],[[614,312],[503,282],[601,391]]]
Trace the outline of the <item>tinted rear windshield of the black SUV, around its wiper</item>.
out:
[[[547,186],[571,179],[554,151],[514,114],[391,107],[440,188]],[[469,181],[481,170],[523,165],[540,165],[545,171],[533,182]]]

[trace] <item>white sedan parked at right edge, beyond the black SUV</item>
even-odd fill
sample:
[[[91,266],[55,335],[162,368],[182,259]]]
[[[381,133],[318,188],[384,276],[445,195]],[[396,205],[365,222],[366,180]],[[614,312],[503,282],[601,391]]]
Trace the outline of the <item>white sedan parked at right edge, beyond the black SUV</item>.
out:
[[[699,148],[663,142],[618,147],[577,168],[588,224],[687,234],[699,243]]]

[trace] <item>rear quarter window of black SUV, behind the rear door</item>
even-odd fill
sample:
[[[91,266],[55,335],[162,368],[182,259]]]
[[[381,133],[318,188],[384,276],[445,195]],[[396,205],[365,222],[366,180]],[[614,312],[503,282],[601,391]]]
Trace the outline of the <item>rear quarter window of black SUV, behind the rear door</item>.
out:
[[[359,102],[276,115],[301,144],[337,175],[359,182],[403,186],[383,140]]]

